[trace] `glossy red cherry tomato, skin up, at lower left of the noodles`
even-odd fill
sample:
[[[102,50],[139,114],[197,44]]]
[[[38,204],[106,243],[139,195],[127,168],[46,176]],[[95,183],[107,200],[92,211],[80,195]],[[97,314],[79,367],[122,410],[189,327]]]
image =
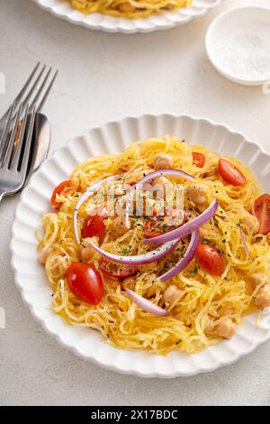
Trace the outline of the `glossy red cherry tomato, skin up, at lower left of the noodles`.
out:
[[[71,263],[67,269],[67,284],[78,299],[91,305],[98,305],[103,298],[101,275],[88,263]]]

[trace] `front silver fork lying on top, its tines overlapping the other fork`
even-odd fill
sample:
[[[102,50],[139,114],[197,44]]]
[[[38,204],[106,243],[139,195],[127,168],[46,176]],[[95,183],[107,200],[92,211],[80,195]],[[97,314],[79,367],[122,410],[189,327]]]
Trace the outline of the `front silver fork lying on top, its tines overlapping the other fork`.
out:
[[[0,201],[5,195],[14,194],[23,188],[31,157],[31,139],[36,106],[33,106],[30,112],[30,106],[27,104],[22,120],[20,116],[23,111],[23,103],[19,105],[14,116],[15,107],[14,102],[9,111],[4,134],[0,141]],[[20,134],[19,138],[18,134]]]

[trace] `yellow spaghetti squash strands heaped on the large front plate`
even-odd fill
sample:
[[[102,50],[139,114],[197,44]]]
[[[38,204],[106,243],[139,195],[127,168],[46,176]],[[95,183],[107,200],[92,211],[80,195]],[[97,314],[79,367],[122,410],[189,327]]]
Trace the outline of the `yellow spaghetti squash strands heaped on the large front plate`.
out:
[[[84,1],[73,3],[82,6],[89,4],[89,7],[92,4]],[[165,307],[163,294],[170,284],[175,284],[184,292],[175,306],[167,308],[169,316],[163,318],[140,309],[130,300],[120,282],[106,278],[103,299],[97,306],[77,299],[68,288],[65,269],[70,263],[81,260],[80,246],[76,244],[72,226],[79,197],[95,181],[110,175],[122,173],[127,182],[139,180],[146,171],[153,170],[155,157],[160,152],[173,157],[173,168],[192,174],[199,184],[208,188],[208,205],[213,199],[218,199],[216,215],[202,226],[200,232],[201,243],[211,244],[219,250],[225,263],[224,272],[220,276],[213,276],[204,272],[193,260],[172,281],[160,282],[153,278],[153,273],[161,275],[178,261],[179,251],[170,253],[158,262],[139,266],[139,273],[134,277],[134,290],[154,304]],[[205,155],[206,161],[202,168],[193,163],[193,152]],[[39,250],[49,252],[45,269],[53,293],[54,312],[69,325],[100,331],[103,339],[113,346],[166,355],[173,349],[193,354],[217,343],[219,337],[206,331],[210,318],[218,324],[227,314],[238,325],[243,316],[256,310],[256,290],[250,287],[247,276],[253,272],[264,272],[269,276],[269,245],[266,235],[246,232],[246,243],[252,255],[250,260],[241,240],[239,222],[249,215],[248,211],[261,194],[261,189],[253,172],[235,158],[229,158],[229,161],[245,175],[245,185],[229,185],[219,174],[205,177],[208,171],[217,166],[219,159],[219,156],[202,145],[191,146],[175,137],[165,136],[132,143],[124,152],[89,158],[77,166],[70,177],[71,191],[58,196],[61,204],[58,211],[43,215],[44,234],[38,244]],[[174,183],[173,178],[168,180]],[[184,187],[191,184],[191,181],[183,181]],[[188,198],[184,199],[184,207],[193,216],[205,209],[205,206],[195,207]],[[84,204],[78,212],[79,233],[85,217],[87,211]],[[132,229],[119,236],[113,232],[113,218],[106,219],[103,249],[118,254],[146,253],[152,249],[142,243],[143,217],[136,220]],[[188,241],[189,237],[184,237],[180,251],[182,249],[184,252]],[[100,259],[101,256],[94,253],[88,263],[93,263],[98,269]]]

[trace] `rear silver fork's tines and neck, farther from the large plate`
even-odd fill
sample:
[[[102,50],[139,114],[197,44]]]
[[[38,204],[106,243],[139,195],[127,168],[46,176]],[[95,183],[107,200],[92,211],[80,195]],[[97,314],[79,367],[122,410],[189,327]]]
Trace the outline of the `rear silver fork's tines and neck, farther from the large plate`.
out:
[[[5,114],[0,118],[0,139],[4,134],[4,128],[11,111],[12,123],[14,123],[20,105],[21,114],[19,116],[19,120],[22,119],[27,105],[29,113],[32,112],[34,107],[36,112],[40,112],[47,100],[47,97],[49,96],[49,92],[57,76],[58,70],[53,71],[51,67],[48,69],[46,65],[41,66],[40,62],[37,63],[37,65],[32,70],[30,77],[25,82],[23,88],[14,99],[13,105],[11,105]]]

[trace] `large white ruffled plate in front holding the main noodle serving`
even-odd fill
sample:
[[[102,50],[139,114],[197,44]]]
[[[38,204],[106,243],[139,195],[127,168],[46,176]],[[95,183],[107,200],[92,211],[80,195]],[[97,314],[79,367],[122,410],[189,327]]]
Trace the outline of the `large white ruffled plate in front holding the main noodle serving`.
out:
[[[167,356],[116,349],[104,343],[100,334],[82,327],[66,326],[50,309],[51,291],[43,266],[38,261],[34,231],[40,228],[41,212],[50,210],[52,190],[81,161],[104,152],[121,152],[128,144],[151,136],[172,134],[190,144],[202,143],[220,155],[231,155],[249,165],[261,185],[269,187],[270,155],[244,135],[207,119],[189,115],[142,115],[103,124],[72,139],[45,161],[23,190],[16,209],[11,251],[15,282],[23,300],[49,335],[76,355],[120,373],[143,377],[188,376],[231,364],[252,352],[270,336],[270,315],[256,327],[257,314],[243,319],[236,335],[198,355],[173,352]]]

